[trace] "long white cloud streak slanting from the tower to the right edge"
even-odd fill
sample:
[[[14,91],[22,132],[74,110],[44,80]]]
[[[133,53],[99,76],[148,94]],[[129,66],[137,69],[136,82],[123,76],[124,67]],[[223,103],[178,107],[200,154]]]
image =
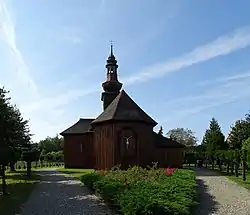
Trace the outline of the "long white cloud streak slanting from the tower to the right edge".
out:
[[[155,64],[143,68],[131,77],[125,78],[124,83],[130,85],[138,82],[146,82],[150,79],[159,78],[170,72],[198,64],[213,58],[228,55],[250,45],[250,27],[244,27],[231,32],[228,35],[221,36],[216,40],[199,46],[191,52],[167,62]]]

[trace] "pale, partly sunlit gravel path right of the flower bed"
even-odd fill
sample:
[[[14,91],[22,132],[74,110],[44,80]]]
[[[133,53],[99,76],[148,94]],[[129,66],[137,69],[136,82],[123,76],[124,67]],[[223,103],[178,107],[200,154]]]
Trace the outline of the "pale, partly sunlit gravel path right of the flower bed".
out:
[[[195,170],[200,205],[195,215],[250,215],[250,192],[207,169]]]

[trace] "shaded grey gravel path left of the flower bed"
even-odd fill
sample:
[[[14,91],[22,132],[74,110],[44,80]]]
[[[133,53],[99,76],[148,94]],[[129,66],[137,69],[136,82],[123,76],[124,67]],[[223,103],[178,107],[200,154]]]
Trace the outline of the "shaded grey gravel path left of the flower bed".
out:
[[[111,215],[112,212],[86,187],[56,170],[41,171],[36,186],[21,215]]]

